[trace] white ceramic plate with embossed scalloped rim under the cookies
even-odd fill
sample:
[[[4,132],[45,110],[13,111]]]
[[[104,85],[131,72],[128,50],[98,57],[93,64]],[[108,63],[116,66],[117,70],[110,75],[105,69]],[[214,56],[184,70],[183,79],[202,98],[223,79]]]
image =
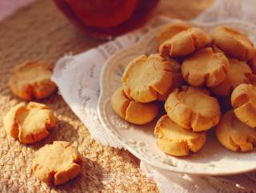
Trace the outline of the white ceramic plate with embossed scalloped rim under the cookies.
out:
[[[254,44],[256,43],[256,28],[244,22],[218,22],[211,24],[191,23],[206,32],[217,26],[231,26],[247,33]],[[134,156],[169,171],[176,171],[194,175],[231,175],[256,170],[256,151],[234,153],[223,148],[215,138],[214,129],[207,134],[205,146],[201,151],[184,158],[168,156],[161,152],[154,137],[154,125],[138,126],[129,124],[115,114],[111,108],[110,98],[114,90],[120,87],[121,77],[126,65],[143,53],[157,53],[155,34],[158,29],[146,34],[137,44],[122,49],[114,54],[102,70],[101,96],[98,101],[98,116],[106,130],[118,140],[123,147]]]

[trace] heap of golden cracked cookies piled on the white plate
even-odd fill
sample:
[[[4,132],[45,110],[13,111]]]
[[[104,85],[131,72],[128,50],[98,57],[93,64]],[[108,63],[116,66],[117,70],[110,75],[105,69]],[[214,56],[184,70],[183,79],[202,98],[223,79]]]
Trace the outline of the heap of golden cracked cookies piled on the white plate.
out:
[[[207,34],[184,23],[163,26],[158,53],[134,58],[111,99],[132,124],[154,128],[158,148],[172,156],[198,152],[206,131],[234,152],[256,144],[256,49],[238,30],[219,26]]]

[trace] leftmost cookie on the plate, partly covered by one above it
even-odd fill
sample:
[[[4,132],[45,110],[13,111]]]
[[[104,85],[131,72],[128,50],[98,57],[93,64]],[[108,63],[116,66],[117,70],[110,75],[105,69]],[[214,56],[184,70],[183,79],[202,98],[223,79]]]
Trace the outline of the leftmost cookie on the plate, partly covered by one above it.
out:
[[[158,116],[159,106],[156,102],[139,103],[126,97],[122,88],[117,89],[111,104],[114,111],[132,124],[146,124]]]

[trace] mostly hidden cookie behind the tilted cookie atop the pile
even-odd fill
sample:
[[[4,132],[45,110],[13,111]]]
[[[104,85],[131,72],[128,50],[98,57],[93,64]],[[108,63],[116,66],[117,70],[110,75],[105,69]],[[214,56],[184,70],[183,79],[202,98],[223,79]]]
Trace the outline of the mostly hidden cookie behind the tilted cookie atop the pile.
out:
[[[162,28],[157,33],[158,45],[161,45],[166,40],[169,40],[175,34],[190,28],[191,26],[182,22],[170,23],[162,26]]]

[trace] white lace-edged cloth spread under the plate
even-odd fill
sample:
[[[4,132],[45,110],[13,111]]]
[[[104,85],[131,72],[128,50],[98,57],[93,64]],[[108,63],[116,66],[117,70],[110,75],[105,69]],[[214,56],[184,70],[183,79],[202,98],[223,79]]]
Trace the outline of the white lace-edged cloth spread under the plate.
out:
[[[256,24],[255,0],[217,0],[205,13],[194,18],[200,22],[214,22],[226,18],[239,18]],[[91,136],[104,145],[122,148],[102,128],[97,116],[99,79],[107,58],[116,51],[134,44],[148,30],[168,22],[168,18],[156,18],[147,26],[127,33],[114,41],[75,56],[59,59],[52,80],[66,103],[86,125]],[[162,171],[141,163],[142,171],[158,184],[161,192],[256,192],[256,172],[229,177],[182,175]]]

